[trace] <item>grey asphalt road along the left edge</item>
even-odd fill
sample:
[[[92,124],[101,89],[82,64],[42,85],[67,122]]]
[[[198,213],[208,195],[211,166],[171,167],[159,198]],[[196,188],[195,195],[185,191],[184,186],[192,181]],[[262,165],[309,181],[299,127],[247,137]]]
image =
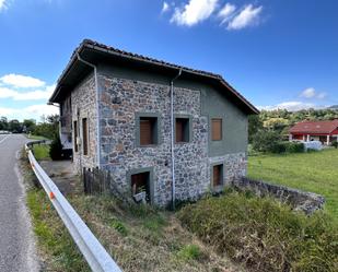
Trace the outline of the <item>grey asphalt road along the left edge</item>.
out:
[[[23,180],[19,173],[19,151],[27,139],[0,134],[0,271],[38,271]]]

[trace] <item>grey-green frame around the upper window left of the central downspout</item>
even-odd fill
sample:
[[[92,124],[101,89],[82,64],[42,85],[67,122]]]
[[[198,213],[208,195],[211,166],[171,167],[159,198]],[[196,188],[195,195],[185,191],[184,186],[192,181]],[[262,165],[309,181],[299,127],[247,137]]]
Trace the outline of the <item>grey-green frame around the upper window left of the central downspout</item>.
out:
[[[140,142],[140,121],[141,118],[156,118],[155,128],[153,129],[154,143],[141,144]],[[136,134],[136,146],[137,147],[154,147],[161,144],[161,116],[158,113],[136,113],[135,114],[135,134]]]

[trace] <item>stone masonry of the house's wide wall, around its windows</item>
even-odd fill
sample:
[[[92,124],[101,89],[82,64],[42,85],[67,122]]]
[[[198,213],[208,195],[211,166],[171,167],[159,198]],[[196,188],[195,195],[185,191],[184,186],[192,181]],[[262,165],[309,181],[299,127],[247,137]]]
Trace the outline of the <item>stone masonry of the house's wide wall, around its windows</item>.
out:
[[[152,167],[154,203],[162,206],[168,204],[172,199],[170,86],[117,79],[110,74],[98,74],[98,82],[102,168],[110,170],[115,182],[130,193],[128,170]],[[91,84],[92,79],[89,79],[80,88],[85,90]],[[245,175],[246,154],[209,157],[208,117],[201,116],[200,92],[175,87],[174,93],[175,114],[190,116],[193,120],[191,142],[175,144],[176,199],[194,200],[210,189],[212,163],[224,163],[224,180],[230,182]],[[79,92],[73,96],[79,99],[77,94]],[[83,100],[91,95],[88,93]],[[160,116],[159,145],[136,145],[136,113],[155,113]],[[94,135],[92,133],[92,138]],[[92,150],[94,142],[93,139],[92,155],[95,154]],[[89,165],[92,161],[85,161],[85,164]],[[79,159],[75,162],[78,164]]]

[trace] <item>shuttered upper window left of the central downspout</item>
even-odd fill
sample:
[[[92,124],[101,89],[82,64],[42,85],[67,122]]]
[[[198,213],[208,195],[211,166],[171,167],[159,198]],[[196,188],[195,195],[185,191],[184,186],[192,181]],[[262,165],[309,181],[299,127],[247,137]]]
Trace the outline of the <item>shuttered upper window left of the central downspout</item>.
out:
[[[136,143],[138,146],[159,144],[159,117],[156,114],[136,114]]]

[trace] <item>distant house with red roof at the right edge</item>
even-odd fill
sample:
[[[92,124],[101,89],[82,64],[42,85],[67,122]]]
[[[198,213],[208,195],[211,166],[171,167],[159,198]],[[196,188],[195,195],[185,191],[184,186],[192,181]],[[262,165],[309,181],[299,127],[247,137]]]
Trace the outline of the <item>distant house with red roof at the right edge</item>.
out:
[[[334,140],[338,140],[338,120],[298,122],[290,129],[289,139],[320,141],[329,145]]]

